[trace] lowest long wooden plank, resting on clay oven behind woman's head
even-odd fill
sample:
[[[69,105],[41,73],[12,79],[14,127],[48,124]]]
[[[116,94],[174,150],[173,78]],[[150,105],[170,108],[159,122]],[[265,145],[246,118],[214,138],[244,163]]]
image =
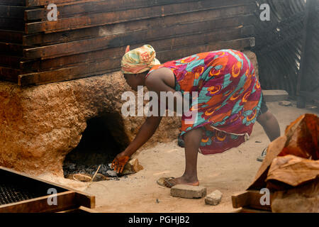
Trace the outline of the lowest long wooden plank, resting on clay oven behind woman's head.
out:
[[[189,46],[174,50],[159,51],[157,55],[162,62],[167,60],[179,59],[182,56],[193,55],[196,52],[206,52],[210,50],[219,50],[220,48],[234,48],[237,50],[249,47],[253,38],[243,38],[239,40],[231,40],[227,42],[213,43],[207,45]],[[21,74],[18,76],[18,85],[30,84],[46,84],[49,82],[59,82],[69,79],[78,79],[96,74],[103,74],[105,72],[112,72],[118,70],[121,58],[113,60],[103,60],[101,62],[86,62],[75,67],[67,67],[59,70],[52,70],[48,72],[36,72],[30,74]]]

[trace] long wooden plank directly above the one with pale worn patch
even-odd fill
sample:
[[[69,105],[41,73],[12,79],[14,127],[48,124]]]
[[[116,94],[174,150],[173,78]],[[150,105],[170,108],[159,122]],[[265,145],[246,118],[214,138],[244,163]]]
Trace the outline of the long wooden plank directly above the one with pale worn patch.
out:
[[[45,31],[47,33],[67,31],[77,28],[87,28],[90,26],[101,26],[112,23],[121,23],[125,21],[176,15],[179,13],[189,13],[191,11],[216,9],[218,7],[225,7],[225,0],[216,0],[213,5],[211,4],[211,1],[203,0],[182,4],[153,6],[144,9],[130,9],[126,11],[96,13],[86,16],[62,18],[58,21],[27,23],[26,33],[39,33],[41,31]]]

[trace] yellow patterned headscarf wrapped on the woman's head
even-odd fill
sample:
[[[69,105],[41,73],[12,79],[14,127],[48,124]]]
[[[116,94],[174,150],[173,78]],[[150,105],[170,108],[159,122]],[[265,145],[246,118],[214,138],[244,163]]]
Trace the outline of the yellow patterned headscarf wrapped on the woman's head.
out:
[[[125,74],[137,74],[150,70],[155,65],[161,64],[155,57],[156,52],[151,45],[143,45],[134,50],[130,50],[128,45],[121,62],[122,72]]]

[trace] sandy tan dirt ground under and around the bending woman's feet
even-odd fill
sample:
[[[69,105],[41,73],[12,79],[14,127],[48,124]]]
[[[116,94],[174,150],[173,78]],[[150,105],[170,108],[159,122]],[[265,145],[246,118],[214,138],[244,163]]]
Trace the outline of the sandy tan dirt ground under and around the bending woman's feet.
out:
[[[284,133],[286,126],[305,113],[318,115],[318,109],[307,106],[297,109],[269,102],[269,110],[276,116]],[[198,155],[198,179],[210,194],[218,189],[223,198],[218,206],[206,205],[204,199],[181,199],[169,195],[169,189],[159,186],[159,177],[179,177],[184,172],[184,149],[171,143],[159,143],[154,148],[141,150],[138,158],[144,170],[122,177],[120,180],[92,182],[81,190],[96,196],[99,212],[232,212],[231,196],[250,185],[262,162],[256,158],[267,147],[269,140],[262,127],[256,123],[250,139],[219,155]],[[72,185],[69,185],[72,186]]]

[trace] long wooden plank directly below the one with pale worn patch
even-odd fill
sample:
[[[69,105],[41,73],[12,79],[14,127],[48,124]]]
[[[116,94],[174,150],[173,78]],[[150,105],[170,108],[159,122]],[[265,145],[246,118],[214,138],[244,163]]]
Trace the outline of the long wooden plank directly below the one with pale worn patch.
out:
[[[23,50],[23,56],[27,59],[34,58],[52,58],[65,55],[75,55],[80,52],[90,52],[106,48],[113,48],[121,45],[133,44],[135,40],[139,42],[150,42],[161,38],[171,38],[177,35],[186,35],[187,33],[198,33],[201,31],[212,31],[217,28],[227,28],[231,26],[239,26],[247,24],[251,20],[251,16],[238,16],[234,18],[222,18],[212,21],[201,21],[195,23],[181,24],[180,26],[170,26],[158,29],[150,29],[149,31],[140,31],[131,35],[109,35],[88,40],[73,41],[70,43],[60,43],[55,45],[47,45],[38,48],[26,48]],[[144,35],[144,36],[141,36]],[[142,38],[141,38],[142,37]]]

